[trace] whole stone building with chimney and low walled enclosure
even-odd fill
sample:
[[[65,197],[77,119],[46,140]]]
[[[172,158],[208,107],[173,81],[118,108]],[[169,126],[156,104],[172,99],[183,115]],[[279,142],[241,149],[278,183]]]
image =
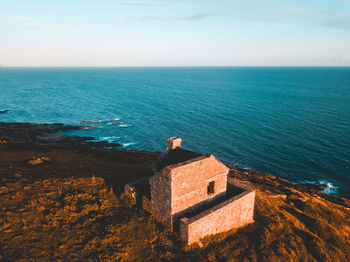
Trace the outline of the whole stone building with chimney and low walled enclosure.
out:
[[[125,185],[135,204],[188,244],[254,221],[255,191],[230,181],[228,167],[215,156],[183,149],[181,138],[167,142],[153,176]]]

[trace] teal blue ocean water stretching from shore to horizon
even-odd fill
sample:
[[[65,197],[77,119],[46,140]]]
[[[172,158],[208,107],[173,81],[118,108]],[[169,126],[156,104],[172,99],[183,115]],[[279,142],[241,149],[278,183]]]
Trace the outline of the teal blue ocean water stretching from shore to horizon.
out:
[[[0,68],[0,121],[100,126],[68,132],[325,183],[350,196],[350,68]],[[113,122],[120,124],[113,125]]]

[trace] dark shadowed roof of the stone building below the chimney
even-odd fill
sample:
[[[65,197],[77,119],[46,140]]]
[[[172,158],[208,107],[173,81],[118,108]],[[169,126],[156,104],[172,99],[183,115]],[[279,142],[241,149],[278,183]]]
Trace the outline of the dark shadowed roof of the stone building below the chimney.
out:
[[[154,163],[153,171],[158,172],[163,168],[175,165],[193,158],[203,156],[202,154],[177,147],[173,150],[167,150],[162,154],[162,156]]]

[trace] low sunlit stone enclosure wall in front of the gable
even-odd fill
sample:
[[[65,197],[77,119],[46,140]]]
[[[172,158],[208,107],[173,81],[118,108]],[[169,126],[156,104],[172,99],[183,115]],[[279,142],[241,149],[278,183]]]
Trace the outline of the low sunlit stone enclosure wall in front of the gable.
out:
[[[180,220],[181,237],[192,244],[213,235],[252,223],[255,191],[246,191],[192,218]]]

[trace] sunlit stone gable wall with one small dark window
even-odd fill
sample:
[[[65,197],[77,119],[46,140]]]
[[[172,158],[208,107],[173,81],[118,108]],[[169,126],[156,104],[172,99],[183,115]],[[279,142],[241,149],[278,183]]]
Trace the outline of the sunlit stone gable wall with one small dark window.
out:
[[[170,166],[172,215],[215,197],[227,188],[228,168],[213,155],[184,163]],[[208,195],[207,187],[211,181],[214,181],[214,194]]]

